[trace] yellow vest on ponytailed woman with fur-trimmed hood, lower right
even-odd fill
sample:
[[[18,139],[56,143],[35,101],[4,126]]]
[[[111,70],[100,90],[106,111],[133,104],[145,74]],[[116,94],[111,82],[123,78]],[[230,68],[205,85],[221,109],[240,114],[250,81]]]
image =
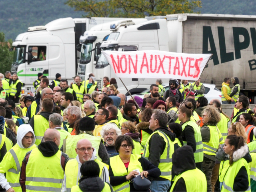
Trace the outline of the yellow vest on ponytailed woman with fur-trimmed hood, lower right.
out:
[[[249,182],[249,187],[246,190],[246,192],[251,191],[251,185],[250,185],[250,168],[248,166],[248,163],[244,158],[239,159],[236,162],[233,162],[233,165],[228,167],[228,170],[226,172],[226,175],[224,176],[222,187],[221,187],[221,192],[233,192],[234,191],[234,180],[236,178],[236,175],[238,174],[240,168],[244,166],[247,171],[248,175],[248,182]]]

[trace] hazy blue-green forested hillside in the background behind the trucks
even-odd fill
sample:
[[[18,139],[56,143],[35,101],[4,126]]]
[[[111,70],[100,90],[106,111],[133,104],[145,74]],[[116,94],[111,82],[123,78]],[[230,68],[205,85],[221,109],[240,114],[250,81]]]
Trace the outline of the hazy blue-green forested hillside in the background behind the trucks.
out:
[[[45,25],[64,17],[79,18],[83,12],[75,12],[65,5],[66,0],[0,0],[0,31],[6,40],[29,26]],[[256,15],[256,0],[202,0],[202,8],[195,10],[212,14]]]

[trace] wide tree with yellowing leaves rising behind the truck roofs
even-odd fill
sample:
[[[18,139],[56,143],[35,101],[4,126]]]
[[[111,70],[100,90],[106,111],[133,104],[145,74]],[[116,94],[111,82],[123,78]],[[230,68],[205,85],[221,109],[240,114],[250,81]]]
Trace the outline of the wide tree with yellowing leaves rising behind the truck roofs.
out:
[[[76,11],[84,11],[89,17],[165,16],[167,14],[194,13],[201,8],[200,0],[68,0]]]

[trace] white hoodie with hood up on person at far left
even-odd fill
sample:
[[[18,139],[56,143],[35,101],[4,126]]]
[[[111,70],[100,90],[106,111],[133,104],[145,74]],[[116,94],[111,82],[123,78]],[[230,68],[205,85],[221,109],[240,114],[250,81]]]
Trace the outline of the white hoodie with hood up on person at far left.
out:
[[[36,137],[35,137],[35,134],[34,134],[34,131],[33,131],[32,127],[28,124],[22,124],[22,125],[19,126],[18,132],[17,132],[17,145],[22,149],[25,149],[24,146],[22,145],[22,139],[24,138],[24,136],[28,132],[32,132],[32,134],[34,135],[34,138],[32,140],[32,144],[30,145],[30,147],[33,146],[36,142]],[[30,148],[30,147],[28,147],[28,148]],[[11,188],[11,186],[7,182],[7,179],[5,178],[3,173],[0,173],[0,185],[6,191]]]

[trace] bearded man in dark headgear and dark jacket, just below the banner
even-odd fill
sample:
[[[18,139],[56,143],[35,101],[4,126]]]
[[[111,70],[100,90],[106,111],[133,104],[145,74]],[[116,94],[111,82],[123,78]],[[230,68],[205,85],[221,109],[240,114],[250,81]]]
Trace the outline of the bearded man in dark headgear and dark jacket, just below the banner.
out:
[[[167,99],[168,97],[174,97],[176,98],[176,102],[181,103],[184,100],[184,98],[182,96],[182,93],[177,89],[178,85],[179,85],[178,80],[170,79],[169,81],[170,89],[164,93],[164,99]]]

